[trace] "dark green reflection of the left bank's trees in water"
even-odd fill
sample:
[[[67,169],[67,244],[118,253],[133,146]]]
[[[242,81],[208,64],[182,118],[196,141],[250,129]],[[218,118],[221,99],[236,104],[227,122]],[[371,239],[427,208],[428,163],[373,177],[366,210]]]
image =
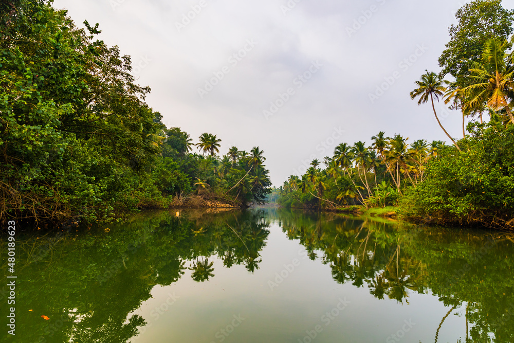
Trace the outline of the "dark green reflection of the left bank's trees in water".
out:
[[[19,235],[17,272],[23,285],[17,289],[16,324],[24,330],[16,331],[16,338],[126,342],[145,324],[131,313],[151,297],[154,285],[179,280],[188,261],[194,261],[191,277],[198,282],[214,277],[213,256],[226,267],[259,268],[269,234],[262,212],[174,214],[145,213],[130,223],[109,225],[109,232]],[[5,240],[0,248],[7,249]]]

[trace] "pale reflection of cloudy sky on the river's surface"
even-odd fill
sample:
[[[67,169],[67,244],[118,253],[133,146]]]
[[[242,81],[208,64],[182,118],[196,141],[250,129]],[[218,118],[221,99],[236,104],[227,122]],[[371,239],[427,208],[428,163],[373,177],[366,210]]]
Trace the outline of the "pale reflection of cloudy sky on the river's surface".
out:
[[[245,320],[225,342],[296,343],[318,324],[323,330],[316,342],[385,342],[402,329],[404,320],[412,320],[415,325],[401,341],[426,343],[434,340],[440,320],[450,309],[433,295],[409,291],[409,304],[402,305],[387,296],[385,300],[376,299],[368,287],[336,283],[329,265],[319,259],[303,259],[305,249],[297,240],[288,240],[277,224],[271,225],[261,255],[260,269],[253,275],[243,265],[226,268],[223,261],[209,258],[214,261],[215,275],[210,281],[197,283],[187,270],[171,286],[154,287],[153,298],[134,312],[148,324],[146,332],[132,342],[218,342],[216,332],[229,325],[234,315],[241,314]],[[268,281],[273,281],[275,273],[281,273],[293,259],[298,259],[299,265],[271,291]],[[152,311],[169,294],[179,298],[156,320]],[[338,305],[339,298],[350,304],[326,326],[327,320],[321,317]],[[464,316],[453,313],[439,331],[440,342],[455,342],[466,335]]]

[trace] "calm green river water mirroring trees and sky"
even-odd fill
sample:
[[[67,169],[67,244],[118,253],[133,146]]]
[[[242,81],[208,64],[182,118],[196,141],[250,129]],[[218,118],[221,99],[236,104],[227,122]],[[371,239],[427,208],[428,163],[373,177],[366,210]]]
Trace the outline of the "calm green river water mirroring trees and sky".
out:
[[[508,234],[274,209],[21,229],[6,342],[514,342]]]

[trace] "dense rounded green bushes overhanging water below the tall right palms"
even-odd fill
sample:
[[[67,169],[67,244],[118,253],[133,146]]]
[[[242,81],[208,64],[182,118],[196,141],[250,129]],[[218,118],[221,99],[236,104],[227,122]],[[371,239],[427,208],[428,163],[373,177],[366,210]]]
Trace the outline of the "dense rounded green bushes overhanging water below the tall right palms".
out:
[[[408,218],[438,224],[512,225],[514,125],[470,125],[467,150],[445,150],[401,201]]]

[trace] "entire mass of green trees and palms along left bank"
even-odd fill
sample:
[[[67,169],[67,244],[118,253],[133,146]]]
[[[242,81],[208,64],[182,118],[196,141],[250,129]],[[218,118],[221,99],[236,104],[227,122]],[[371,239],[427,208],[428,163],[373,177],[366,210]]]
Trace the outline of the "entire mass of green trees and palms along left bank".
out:
[[[167,129],[144,102],[131,59],[47,0],[0,6],[0,221],[104,220],[188,205],[191,193],[233,206],[270,191],[263,152]],[[207,154],[207,156],[205,156]],[[194,202],[201,206],[201,201]]]

